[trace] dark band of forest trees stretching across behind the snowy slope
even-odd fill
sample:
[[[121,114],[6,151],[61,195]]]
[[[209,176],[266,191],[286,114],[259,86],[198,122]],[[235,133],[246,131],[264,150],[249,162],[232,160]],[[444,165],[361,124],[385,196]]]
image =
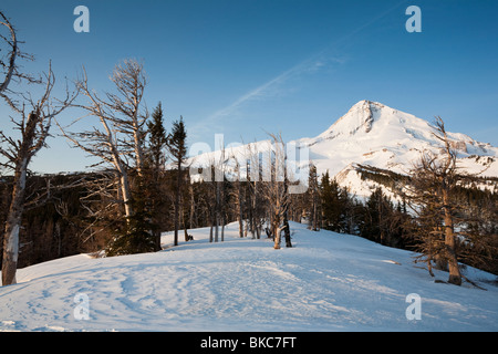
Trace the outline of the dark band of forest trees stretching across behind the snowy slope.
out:
[[[176,122],[174,132],[180,131],[184,136],[185,125],[180,123],[183,119]],[[239,225],[239,237],[276,240],[282,235],[286,244],[292,247],[290,229],[287,239],[286,228],[288,220],[293,220],[307,223],[310,230],[356,235],[417,251],[417,261],[426,263],[432,274],[433,268],[449,271],[452,260],[498,273],[498,195],[479,187],[481,177],[474,179],[463,170],[454,170],[453,185],[430,177],[423,165],[428,153],[414,162],[407,176],[359,166],[362,178],[376,184],[369,197],[352,195],[328,171],[319,176],[312,164],[307,190],[286,194],[284,181],[255,178],[262,173],[262,166],[258,174],[251,173],[251,158],[245,168],[236,165],[230,171],[219,171],[215,166],[220,165],[211,164],[205,174],[210,178],[205,180],[193,179],[186,165],[167,168],[167,162],[175,160],[166,148],[174,134],[164,129],[160,104],[145,126],[143,174],[128,169],[132,217],[126,217],[124,202],[118,199],[118,176],[113,169],[28,176],[20,264],[103,249],[107,256],[157,251],[160,231],[167,230],[177,231],[178,243],[189,240],[188,229],[209,227],[210,241],[224,241],[225,226],[234,221]],[[258,154],[250,152],[250,145],[248,149],[248,156],[255,159]],[[454,156],[450,149],[448,154]],[[440,156],[429,160],[433,169],[442,164],[437,163]],[[215,178],[217,174],[222,178]],[[3,206],[10,202],[12,181],[13,176],[4,176],[0,183],[2,220],[7,218],[8,208]],[[448,195],[439,190],[443,187]],[[387,190],[394,191],[391,196],[396,198],[388,197]],[[452,223],[445,208],[449,209]],[[446,243],[448,229],[453,230],[452,248]],[[278,248],[280,240],[274,246]],[[457,277],[461,281],[460,271]]]

